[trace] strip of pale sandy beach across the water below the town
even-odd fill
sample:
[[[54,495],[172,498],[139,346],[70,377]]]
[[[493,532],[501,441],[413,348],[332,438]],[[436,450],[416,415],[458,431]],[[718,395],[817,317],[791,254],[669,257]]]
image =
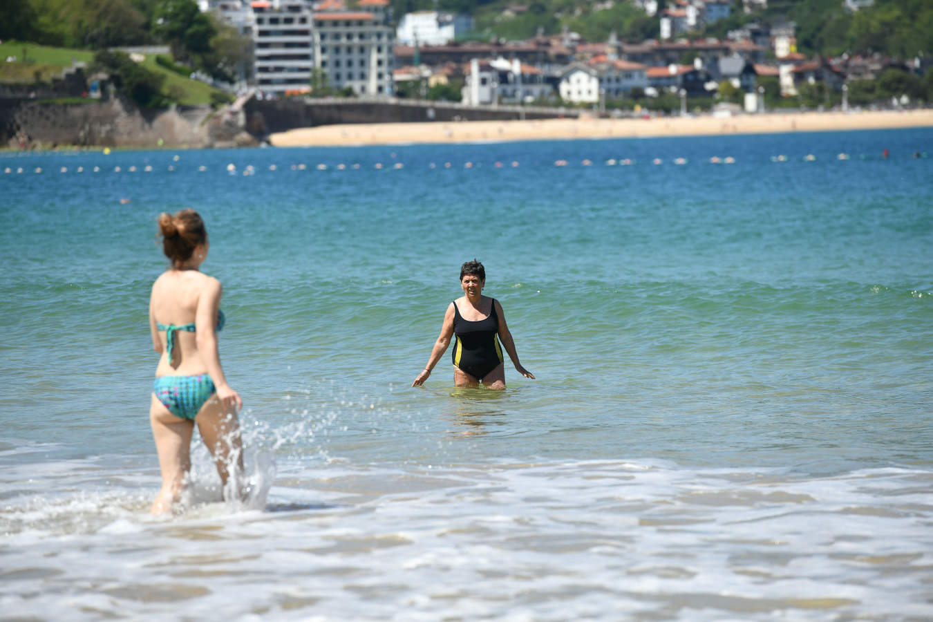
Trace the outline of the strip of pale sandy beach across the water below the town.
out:
[[[885,130],[930,126],[933,126],[933,109],[847,113],[775,112],[736,117],[582,117],[524,121],[342,124],[273,133],[270,141],[274,146],[397,145]]]

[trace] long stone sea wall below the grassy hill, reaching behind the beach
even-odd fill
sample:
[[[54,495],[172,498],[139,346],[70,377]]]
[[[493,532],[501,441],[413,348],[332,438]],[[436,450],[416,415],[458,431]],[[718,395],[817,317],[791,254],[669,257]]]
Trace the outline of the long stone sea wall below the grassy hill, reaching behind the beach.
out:
[[[121,147],[226,147],[257,145],[273,132],[341,123],[411,123],[575,116],[574,109],[470,107],[405,100],[258,100],[235,104],[141,110],[122,98],[85,104],[0,96],[0,145]]]

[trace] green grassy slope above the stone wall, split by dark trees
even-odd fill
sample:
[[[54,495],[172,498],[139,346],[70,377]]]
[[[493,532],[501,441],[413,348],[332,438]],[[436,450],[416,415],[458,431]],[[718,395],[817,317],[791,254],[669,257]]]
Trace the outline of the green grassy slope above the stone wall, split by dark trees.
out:
[[[23,62],[23,49],[26,62]],[[17,61],[7,62],[9,56],[17,57]],[[51,76],[61,75],[62,70],[70,67],[72,62],[90,63],[93,58],[94,53],[86,49],[47,48],[35,43],[4,41],[0,44],[0,82],[33,82],[36,72],[40,80],[48,82]],[[190,80],[161,67],[156,63],[154,54],[146,54],[143,66],[165,76],[162,90],[176,92],[180,104],[209,104],[211,93],[216,91],[203,82]]]

